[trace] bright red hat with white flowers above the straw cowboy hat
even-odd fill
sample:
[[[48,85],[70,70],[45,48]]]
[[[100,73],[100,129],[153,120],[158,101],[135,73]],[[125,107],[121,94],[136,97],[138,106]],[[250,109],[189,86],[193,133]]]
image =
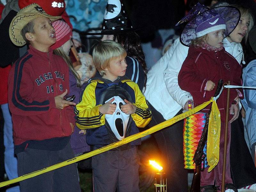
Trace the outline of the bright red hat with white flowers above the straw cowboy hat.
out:
[[[64,0],[19,0],[18,1],[20,9],[32,3],[36,3],[40,5],[47,14],[52,16],[60,16],[66,7]]]

